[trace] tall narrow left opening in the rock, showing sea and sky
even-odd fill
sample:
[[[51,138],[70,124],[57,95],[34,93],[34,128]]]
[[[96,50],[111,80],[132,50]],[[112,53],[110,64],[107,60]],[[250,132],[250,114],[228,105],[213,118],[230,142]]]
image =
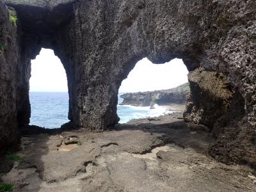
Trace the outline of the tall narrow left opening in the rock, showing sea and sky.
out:
[[[67,74],[51,49],[42,49],[31,60],[29,101],[30,125],[53,129],[68,122]]]

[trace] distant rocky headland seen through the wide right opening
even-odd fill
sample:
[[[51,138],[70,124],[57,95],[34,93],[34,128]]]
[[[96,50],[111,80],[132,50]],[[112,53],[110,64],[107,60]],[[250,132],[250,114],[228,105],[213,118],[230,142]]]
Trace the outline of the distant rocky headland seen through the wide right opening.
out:
[[[170,90],[125,93],[124,95],[121,95],[121,98],[124,100],[120,105],[154,106],[154,104],[185,104],[188,94],[189,83],[186,83]]]

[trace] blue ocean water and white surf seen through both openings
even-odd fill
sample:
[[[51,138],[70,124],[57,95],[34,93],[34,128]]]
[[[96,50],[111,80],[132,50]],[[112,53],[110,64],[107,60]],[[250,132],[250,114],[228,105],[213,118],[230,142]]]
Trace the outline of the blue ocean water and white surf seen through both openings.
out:
[[[118,94],[117,114],[120,124],[133,118],[145,118],[163,115],[166,108],[155,105],[150,107],[120,106],[122,93]],[[38,125],[49,129],[58,128],[68,120],[68,93],[66,92],[30,92],[31,104],[30,125]]]

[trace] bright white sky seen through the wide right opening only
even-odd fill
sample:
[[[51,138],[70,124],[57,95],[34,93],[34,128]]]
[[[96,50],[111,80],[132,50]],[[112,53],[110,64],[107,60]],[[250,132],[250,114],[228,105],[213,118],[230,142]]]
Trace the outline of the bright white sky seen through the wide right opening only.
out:
[[[156,65],[144,58],[122,82],[119,92],[166,90],[187,82],[188,69],[182,60]]]

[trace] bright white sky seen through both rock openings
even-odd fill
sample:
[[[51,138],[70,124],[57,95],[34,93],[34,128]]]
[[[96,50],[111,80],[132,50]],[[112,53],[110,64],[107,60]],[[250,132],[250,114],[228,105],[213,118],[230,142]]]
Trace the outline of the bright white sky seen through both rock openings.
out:
[[[182,60],[153,64],[147,58],[139,61],[122,82],[119,92],[146,92],[174,88],[188,82],[188,69]],[[42,49],[31,60],[31,92],[67,92],[67,76],[60,59],[51,49]]]

